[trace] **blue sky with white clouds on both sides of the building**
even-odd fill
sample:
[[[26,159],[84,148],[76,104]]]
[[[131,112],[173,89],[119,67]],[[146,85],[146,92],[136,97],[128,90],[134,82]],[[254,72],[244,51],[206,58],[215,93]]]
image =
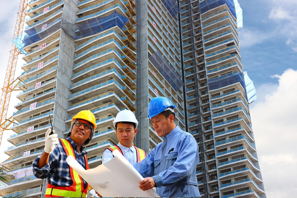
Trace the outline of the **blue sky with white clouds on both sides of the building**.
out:
[[[257,101],[250,114],[266,196],[295,197],[297,194],[297,1],[238,0],[243,10],[243,28],[238,31],[241,62],[253,80]],[[19,0],[1,1],[0,86],[3,86]],[[19,57],[15,77],[23,64]],[[16,109],[13,92],[9,115]],[[0,163],[11,144],[4,131]]]

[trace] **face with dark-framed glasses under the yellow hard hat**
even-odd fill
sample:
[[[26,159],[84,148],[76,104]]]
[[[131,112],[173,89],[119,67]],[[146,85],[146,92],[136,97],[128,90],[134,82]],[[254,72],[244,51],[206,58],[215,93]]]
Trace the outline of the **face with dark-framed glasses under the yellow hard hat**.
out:
[[[74,122],[82,122],[82,123],[87,123],[91,124],[88,121],[85,120],[75,120]],[[91,125],[92,126],[92,125]],[[91,134],[91,129],[85,129],[84,125],[76,126],[75,124],[73,125],[70,137],[71,139],[77,144],[77,145],[82,145],[88,138],[90,139],[90,134]]]

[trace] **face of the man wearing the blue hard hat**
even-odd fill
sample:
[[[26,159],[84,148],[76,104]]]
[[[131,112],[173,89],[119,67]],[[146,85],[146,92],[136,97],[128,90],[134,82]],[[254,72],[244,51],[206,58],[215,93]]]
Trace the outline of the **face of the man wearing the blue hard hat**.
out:
[[[151,118],[151,123],[153,124],[153,127],[159,137],[166,136],[172,131],[170,121],[171,118],[172,120],[174,119],[173,115],[170,115],[166,119],[165,116],[161,113]]]

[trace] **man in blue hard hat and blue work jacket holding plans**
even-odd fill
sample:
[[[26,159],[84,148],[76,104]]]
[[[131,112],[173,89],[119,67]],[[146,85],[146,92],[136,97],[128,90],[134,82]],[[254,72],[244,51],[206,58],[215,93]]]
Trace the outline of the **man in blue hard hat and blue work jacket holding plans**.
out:
[[[134,165],[144,177],[143,191],[153,187],[160,197],[201,197],[196,166],[199,162],[195,138],[174,123],[176,106],[165,97],[151,99],[148,107],[156,133],[163,137],[148,156]]]

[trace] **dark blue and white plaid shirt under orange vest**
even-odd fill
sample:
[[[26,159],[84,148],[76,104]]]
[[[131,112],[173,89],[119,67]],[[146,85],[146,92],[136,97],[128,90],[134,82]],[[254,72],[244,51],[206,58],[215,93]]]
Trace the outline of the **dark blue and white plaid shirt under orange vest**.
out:
[[[86,150],[81,147],[81,153],[79,154],[78,146],[75,144],[75,142],[73,142],[70,137],[67,137],[66,140],[68,140],[72,145],[76,161],[78,161],[78,163],[86,169],[84,159],[84,156],[87,154]],[[59,144],[56,144],[56,148],[53,150],[52,153],[50,153],[48,164],[46,164],[44,167],[42,167],[41,169],[37,167],[40,156],[38,156],[34,160],[32,164],[34,176],[39,179],[48,178],[48,183],[54,186],[71,186],[73,184],[73,181],[71,179],[70,167],[67,164],[66,158],[67,156],[63,146],[61,145],[61,142]],[[83,183],[84,187],[86,188],[86,181],[83,180]]]

